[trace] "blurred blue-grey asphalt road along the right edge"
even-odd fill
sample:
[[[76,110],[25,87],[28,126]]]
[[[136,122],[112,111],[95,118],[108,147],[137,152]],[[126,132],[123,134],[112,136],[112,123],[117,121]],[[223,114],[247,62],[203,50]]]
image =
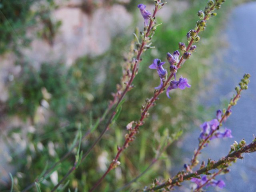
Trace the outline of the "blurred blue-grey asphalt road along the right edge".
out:
[[[253,134],[256,135],[256,2],[235,8],[227,19],[224,34],[229,45],[218,51],[218,58],[214,60],[218,84],[214,86],[209,98],[232,97],[234,87],[244,73],[251,74],[250,85],[242,93],[238,104],[232,108],[232,115],[224,124],[224,127],[232,129],[234,138],[212,140],[210,146],[203,150],[201,160],[207,160],[208,157],[218,160],[227,154],[234,140],[239,142],[244,138],[249,143]],[[204,102],[210,102],[217,110],[223,100]],[[181,164],[189,162],[191,151],[198,144],[199,133],[199,129],[195,130],[184,139],[184,162]],[[245,154],[244,159],[238,160],[230,169],[229,174],[218,177],[226,182],[224,189],[210,187],[207,191],[256,192],[256,153]],[[180,191],[187,189],[182,188]]]

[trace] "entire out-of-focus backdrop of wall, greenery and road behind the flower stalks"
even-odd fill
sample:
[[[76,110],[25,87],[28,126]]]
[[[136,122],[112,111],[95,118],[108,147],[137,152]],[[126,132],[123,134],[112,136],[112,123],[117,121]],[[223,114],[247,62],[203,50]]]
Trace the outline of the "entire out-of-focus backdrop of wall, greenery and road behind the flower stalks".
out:
[[[126,125],[140,117],[140,106],[152,96],[160,81],[148,66],[154,58],[166,60],[167,52],[186,42],[197,12],[206,0],[167,0],[158,13],[153,46],[143,54],[135,88],[126,95],[118,120],[82,162],[70,180],[71,191],[87,191],[100,178],[126,134]],[[69,150],[80,128],[85,133],[102,116],[122,75],[135,28],[143,28],[136,7],[144,3],[152,12],[153,1],[138,0],[12,0],[0,1],[0,191],[11,186],[20,191]],[[140,134],[97,189],[115,191],[136,178],[152,162],[156,149],[168,136],[174,143],[137,182],[122,191],[143,188],[175,175],[188,163],[198,143],[199,125],[226,107],[234,87],[246,72],[252,74],[248,91],[234,107],[225,126],[233,139],[213,142],[201,160],[227,154],[233,140],[252,140],[255,132],[256,2],[227,1],[200,34],[196,52],[178,72],[188,78],[190,89],[160,96],[150,110]],[[167,66],[166,66],[167,67]],[[253,74],[255,74],[253,76]],[[104,123],[82,142],[86,151]],[[178,141],[177,141],[178,139]],[[50,178],[40,183],[50,191],[72,167],[75,154],[62,162]],[[238,161],[223,176],[221,191],[256,190],[255,155]],[[234,182],[236,180],[236,182]],[[191,185],[178,189],[190,191]],[[35,191],[32,188],[30,191]],[[219,189],[210,188],[215,191]],[[67,188],[64,191],[68,191]]]

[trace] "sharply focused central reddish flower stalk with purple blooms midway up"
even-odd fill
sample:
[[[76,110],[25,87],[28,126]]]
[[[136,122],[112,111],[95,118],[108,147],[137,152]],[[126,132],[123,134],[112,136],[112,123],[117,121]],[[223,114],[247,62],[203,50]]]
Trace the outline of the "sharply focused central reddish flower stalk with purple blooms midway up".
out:
[[[210,3],[209,3],[210,2]],[[187,80],[182,78],[179,82],[171,81],[172,77],[176,78],[176,72],[177,70],[184,64],[184,62],[190,58],[191,53],[194,52],[195,46],[193,46],[194,42],[199,42],[200,37],[198,36],[200,31],[204,31],[206,28],[206,20],[211,18],[212,16],[215,16],[215,13],[212,13],[212,11],[220,8],[220,4],[224,2],[224,0],[216,0],[216,2],[211,3],[211,1],[208,2],[208,7],[206,7],[204,15],[200,15],[200,18],[202,18],[201,21],[198,21],[196,24],[196,28],[193,30],[190,30],[187,34],[188,38],[188,46],[186,47],[184,43],[180,43],[179,47],[183,52],[183,55],[180,59],[178,59],[179,53],[178,51],[174,52],[174,56],[172,56],[170,53],[167,54],[168,62],[170,63],[170,76],[166,79],[166,81],[163,81],[163,78],[165,78],[166,73],[165,70],[161,67],[161,61],[160,60],[154,60],[153,64],[150,65],[151,68],[156,68],[158,75],[161,79],[160,88],[154,92],[154,96],[150,99],[146,99],[146,103],[142,105],[141,108],[141,116],[138,121],[133,121],[129,124],[128,133],[125,135],[125,141],[124,144],[121,147],[118,147],[118,152],[115,156],[115,158],[112,160],[110,165],[108,166],[108,169],[106,172],[102,175],[102,177],[94,184],[94,186],[90,189],[90,192],[92,192],[99,184],[102,182],[102,180],[106,177],[106,175],[114,168],[120,165],[120,162],[118,161],[118,158],[120,157],[121,153],[130,145],[131,142],[134,141],[135,135],[138,134],[139,127],[144,124],[144,119],[149,116],[148,110],[154,106],[156,103],[156,100],[158,99],[158,96],[164,92],[164,89],[166,86],[170,86],[168,91],[170,91],[173,88],[178,88],[179,84],[181,89],[184,89],[184,87],[190,87],[190,85],[187,83]],[[156,8],[155,8],[156,11]],[[154,14],[153,14],[154,18]],[[151,20],[152,21],[152,20]],[[151,24],[150,21],[150,24]],[[147,34],[147,33],[146,33]],[[143,43],[142,43],[143,45]],[[173,67],[175,66],[175,67]],[[158,88],[158,87],[157,87]]]

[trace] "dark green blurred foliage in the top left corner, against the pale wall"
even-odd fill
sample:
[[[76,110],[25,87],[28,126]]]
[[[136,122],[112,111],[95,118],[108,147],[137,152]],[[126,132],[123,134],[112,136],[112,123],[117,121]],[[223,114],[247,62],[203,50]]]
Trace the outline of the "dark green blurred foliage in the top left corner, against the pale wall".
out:
[[[31,38],[26,34],[29,27],[38,28],[38,36],[52,45],[61,24],[50,16],[56,8],[54,0],[0,1],[0,54],[29,46]]]

